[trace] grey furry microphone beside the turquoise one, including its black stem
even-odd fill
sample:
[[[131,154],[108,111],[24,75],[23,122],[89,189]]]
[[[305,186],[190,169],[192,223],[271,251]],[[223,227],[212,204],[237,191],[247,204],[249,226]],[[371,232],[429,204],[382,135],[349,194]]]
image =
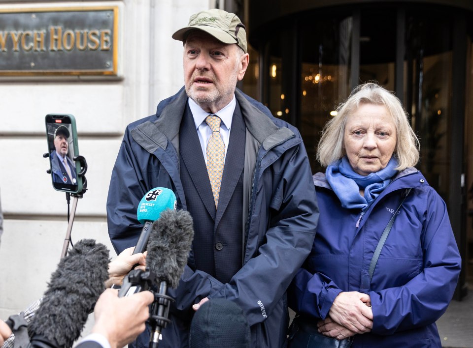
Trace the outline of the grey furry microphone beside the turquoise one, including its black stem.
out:
[[[168,287],[177,288],[194,239],[191,214],[186,210],[166,210],[152,225],[146,269],[155,274],[159,291],[150,310],[150,348],[157,348],[162,329],[170,322]]]

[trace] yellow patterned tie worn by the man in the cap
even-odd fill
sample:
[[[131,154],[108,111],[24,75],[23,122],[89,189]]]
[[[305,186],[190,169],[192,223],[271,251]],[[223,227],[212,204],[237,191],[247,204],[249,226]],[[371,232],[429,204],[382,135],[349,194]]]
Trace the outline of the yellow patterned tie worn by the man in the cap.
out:
[[[207,143],[207,172],[212,186],[215,207],[217,207],[225,160],[225,144],[220,138],[220,117],[209,115],[205,118],[205,122],[212,130],[212,136]]]

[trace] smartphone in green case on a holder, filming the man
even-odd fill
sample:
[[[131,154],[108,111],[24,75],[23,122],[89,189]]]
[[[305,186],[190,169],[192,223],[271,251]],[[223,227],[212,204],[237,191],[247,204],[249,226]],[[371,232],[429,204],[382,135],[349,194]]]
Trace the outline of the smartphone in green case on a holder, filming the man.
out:
[[[74,157],[79,155],[74,116],[48,114],[45,121],[53,187],[58,191],[81,192],[80,163],[74,161]]]

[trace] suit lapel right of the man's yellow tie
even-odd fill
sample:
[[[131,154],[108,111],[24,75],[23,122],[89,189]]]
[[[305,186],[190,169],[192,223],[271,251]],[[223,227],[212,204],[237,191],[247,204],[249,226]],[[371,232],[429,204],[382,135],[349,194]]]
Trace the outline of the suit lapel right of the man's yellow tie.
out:
[[[218,226],[220,219],[227,209],[228,203],[235,191],[236,184],[238,183],[238,179],[243,171],[245,160],[245,132],[245,123],[237,102],[232,118],[227,155],[225,156],[225,167],[223,168],[222,184],[220,185],[218,209],[215,217],[215,228]]]

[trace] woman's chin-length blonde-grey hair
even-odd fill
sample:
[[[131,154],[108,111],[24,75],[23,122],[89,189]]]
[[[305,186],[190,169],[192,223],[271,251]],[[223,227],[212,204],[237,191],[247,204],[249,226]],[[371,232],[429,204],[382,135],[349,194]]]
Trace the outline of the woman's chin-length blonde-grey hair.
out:
[[[371,82],[355,87],[348,99],[338,106],[337,116],[325,124],[317,148],[317,160],[320,164],[327,167],[346,154],[343,146],[346,119],[361,104],[384,105],[393,117],[397,139],[394,155],[399,162],[396,170],[402,171],[415,166],[419,161],[420,144],[401,101],[387,89]]]

